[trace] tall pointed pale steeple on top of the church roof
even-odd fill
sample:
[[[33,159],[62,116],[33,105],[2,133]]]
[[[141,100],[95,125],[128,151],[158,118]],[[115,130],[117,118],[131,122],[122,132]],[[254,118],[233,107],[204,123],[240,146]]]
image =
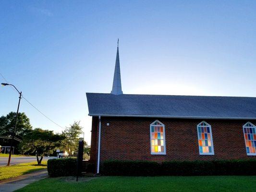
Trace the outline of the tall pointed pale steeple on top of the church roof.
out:
[[[116,65],[115,65],[113,86],[112,86],[112,91],[111,91],[111,94],[113,94],[113,95],[122,95],[118,43],[119,43],[119,39],[117,40]]]

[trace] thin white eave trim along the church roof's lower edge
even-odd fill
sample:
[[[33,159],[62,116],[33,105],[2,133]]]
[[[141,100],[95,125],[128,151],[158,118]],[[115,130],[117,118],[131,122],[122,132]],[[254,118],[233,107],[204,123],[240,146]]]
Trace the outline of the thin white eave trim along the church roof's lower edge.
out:
[[[196,116],[170,116],[170,115],[126,115],[126,114],[92,114],[89,116],[101,117],[146,117],[146,118],[170,118],[170,119],[216,119],[216,120],[256,120],[256,117],[196,117]]]

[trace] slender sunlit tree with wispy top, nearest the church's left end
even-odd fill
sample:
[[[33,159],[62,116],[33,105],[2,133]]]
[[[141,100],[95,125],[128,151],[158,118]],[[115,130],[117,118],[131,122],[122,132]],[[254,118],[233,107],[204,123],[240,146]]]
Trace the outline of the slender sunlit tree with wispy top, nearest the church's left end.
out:
[[[67,151],[76,151],[78,148],[79,135],[82,134],[83,127],[80,126],[80,121],[74,121],[73,125],[66,127],[64,132],[65,140],[63,141],[64,149]]]

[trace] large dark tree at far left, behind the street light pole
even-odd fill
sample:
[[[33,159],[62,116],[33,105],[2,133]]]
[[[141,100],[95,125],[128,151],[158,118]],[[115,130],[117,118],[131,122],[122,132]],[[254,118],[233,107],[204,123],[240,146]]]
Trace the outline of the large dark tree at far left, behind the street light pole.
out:
[[[0,117],[0,135],[11,136],[15,127],[16,112],[10,112],[6,116]],[[24,135],[32,130],[29,118],[25,113],[19,113],[17,119],[17,126],[15,133],[18,138],[22,139]],[[3,146],[8,146],[10,144],[10,139],[2,139],[1,144]],[[13,146],[17,147],[19,142],[14,141]]]

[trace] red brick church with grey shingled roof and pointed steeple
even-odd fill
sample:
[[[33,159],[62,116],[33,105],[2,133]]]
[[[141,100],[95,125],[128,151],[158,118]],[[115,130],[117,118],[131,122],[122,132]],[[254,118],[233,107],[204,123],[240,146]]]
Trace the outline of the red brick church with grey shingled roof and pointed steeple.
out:
[[[118,47],[111,93],[86,97],[97,173],[105,160],[256,157],[256,97],[123,94]]]

